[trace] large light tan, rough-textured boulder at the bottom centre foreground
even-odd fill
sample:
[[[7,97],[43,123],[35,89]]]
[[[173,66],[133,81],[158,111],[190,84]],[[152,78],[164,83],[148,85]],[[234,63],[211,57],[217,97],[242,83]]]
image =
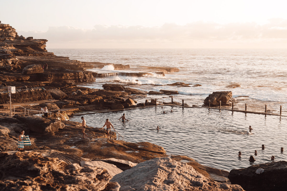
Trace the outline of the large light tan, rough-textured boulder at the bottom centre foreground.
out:
[[[243,191],[239,185],[215,182],[195,171],[192,166],[174,161],[169,157],[139,163],[115,175],[111,181],[120,184],[120,191]]]

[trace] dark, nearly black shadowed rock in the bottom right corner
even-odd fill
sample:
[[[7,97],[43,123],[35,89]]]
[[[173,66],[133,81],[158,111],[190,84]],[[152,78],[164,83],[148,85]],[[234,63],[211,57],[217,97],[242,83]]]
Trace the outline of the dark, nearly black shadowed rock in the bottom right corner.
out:
[[[264,169],[256,174],[258,168]],[[228,178],[232,184],[239,184],[246,191],[285,191],[287,188],[287,162],[268,162],[247,168],[232,169]]]

